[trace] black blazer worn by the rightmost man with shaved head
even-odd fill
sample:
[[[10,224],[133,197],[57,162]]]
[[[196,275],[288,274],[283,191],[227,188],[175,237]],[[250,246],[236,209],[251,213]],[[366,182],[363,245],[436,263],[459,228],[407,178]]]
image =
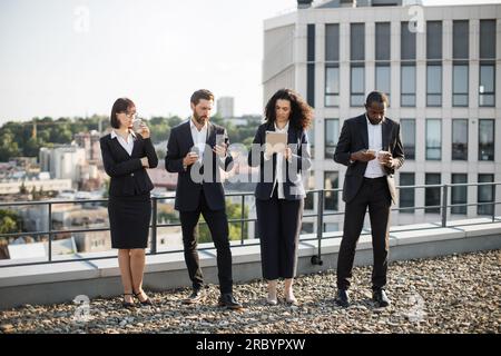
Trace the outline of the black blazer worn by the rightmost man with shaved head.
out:
[[[389,118],[384,118],[382,125],[383,150],[392,154],[394,162],[393,168],[383,168],[386,171],[386,180],[392,200],[396,204],[396,189],[393,175],[396,169],[402,167],[405,159],[400,136],[400,125]],[[357,160],[353,164],[350,162],[351,154],[361,149],[369,149],[367,119],[365,113],[344,121],[340,141],[334,152],[334,160],[348,167],[343,187],[343,200],[346,202],[350,202],[358,192],[364,180],[365,168],[367,168],[367,162]]]

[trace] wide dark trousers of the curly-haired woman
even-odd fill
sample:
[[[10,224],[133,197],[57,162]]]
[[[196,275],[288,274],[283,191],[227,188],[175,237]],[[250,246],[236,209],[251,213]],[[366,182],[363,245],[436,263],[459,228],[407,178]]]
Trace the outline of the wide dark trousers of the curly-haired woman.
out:
[[[303,220],[304,199],[256,199],[257,229],[261,240],[263,278],[294,278],[297,245]]]

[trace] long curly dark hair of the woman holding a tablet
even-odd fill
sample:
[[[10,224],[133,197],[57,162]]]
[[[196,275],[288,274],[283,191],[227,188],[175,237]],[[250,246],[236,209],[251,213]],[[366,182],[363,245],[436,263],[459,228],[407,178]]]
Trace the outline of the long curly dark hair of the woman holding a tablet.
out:
[[[292,89],[281,89],[269,99],[265,108],[266,122],[275,122],[276,100],[291,102],[289,121],[296,129],[307,129],[313,120],[312,107],[297,92]]]

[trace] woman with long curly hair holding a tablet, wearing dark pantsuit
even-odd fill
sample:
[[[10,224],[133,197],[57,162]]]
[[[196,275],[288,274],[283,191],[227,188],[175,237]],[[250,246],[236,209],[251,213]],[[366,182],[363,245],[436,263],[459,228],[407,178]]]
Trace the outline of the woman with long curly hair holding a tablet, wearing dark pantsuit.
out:
[[[277,304],[278,278],[285,278],[286,303],[295,304],[292,285],[305,197],[302,172],[312,165],[306,129],[313,110],[293,90],[281,89],[266,105],[265,117],[248,156],[249,166],[259,166],[255,197],[263,277],[269,305]],[[286,134],[287,145],[266,142],[266,131]]]

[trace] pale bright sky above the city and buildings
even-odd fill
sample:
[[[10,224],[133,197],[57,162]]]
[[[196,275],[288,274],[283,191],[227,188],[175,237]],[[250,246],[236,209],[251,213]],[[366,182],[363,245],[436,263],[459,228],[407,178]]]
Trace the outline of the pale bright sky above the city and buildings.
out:
[[[425,0],[426,6],[501,0]],[[189,97],[261,113],[263,21],[296,0],[0,0],[0,125],[109,115],[189,115]]]

